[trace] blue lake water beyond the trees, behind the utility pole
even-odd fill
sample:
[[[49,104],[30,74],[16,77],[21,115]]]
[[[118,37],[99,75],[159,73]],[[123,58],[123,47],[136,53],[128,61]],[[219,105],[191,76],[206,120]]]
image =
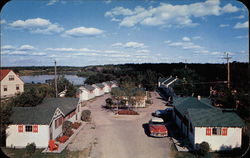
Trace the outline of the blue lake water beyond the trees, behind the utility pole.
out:
[[[46,80],[53,80],[54,75],[35,75],[35,76],[21,76],[24,83],[46,83]],[[74,85],[82,85],[86,78],[78,77],[76,75],[64,75]]]

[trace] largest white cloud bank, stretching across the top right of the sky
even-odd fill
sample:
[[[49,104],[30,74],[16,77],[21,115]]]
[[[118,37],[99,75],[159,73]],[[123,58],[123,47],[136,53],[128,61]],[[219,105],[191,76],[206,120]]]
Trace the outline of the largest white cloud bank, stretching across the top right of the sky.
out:
[[[158,7],[143,8],[137,6],[134,9],[115,7],[105,13],[105,17],[116,19],[120,26],[133,27],[135,25],[147,26],[196,26],[193,18],[204,16],[219,16],[224,13],[237,12],[239,9],[232,4],[220,7],[219,0],[207,0],[185,5],[172,5],[160,3]]]

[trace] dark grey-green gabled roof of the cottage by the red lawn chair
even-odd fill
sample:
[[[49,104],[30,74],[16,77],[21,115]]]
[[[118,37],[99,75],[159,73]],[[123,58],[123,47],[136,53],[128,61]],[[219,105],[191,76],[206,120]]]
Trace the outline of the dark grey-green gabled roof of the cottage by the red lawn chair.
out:
[[[36,107],[13,107],[12,124],[49,124],[56,109],[64,115],[76,109],[78,98],[45,98]]]

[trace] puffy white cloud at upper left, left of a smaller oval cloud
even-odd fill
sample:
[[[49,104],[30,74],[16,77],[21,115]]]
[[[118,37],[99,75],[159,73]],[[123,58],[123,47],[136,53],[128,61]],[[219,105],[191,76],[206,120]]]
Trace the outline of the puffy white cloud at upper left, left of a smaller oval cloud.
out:
[[[53,34],[64,30],[58,24],[53,24],[47,19],[35,18],[27,20],[17,20],[9,24],[12,28],[28,30],[31,33]]]

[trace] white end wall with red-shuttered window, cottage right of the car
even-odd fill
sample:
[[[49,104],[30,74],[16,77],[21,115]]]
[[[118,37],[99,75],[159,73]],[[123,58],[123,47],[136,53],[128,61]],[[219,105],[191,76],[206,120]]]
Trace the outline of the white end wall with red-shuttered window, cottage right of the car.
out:
[[[227,136],[211,135],[206,136],[205,127],[195,127],[195,144],[206,141],[212,150],[223,150],[222,146],[237,148],[241,147],[242,128],[228,128]]]

